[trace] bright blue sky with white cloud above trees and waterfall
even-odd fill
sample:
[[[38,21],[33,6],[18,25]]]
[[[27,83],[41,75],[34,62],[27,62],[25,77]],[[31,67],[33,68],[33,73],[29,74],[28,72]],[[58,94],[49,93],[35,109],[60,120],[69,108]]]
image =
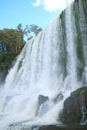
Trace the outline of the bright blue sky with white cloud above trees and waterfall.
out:
[[[36,24],[44,28],[65,8],[65,1],[0,0],[0,29],[15,29],[19,23],[23,27]]]

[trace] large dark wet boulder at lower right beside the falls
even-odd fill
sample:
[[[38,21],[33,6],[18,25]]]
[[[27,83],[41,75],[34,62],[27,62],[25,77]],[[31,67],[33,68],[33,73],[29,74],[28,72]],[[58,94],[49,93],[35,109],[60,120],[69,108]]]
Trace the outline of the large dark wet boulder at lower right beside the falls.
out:
[[[87,87],[72,92],[64,101],[60,120],[65,124],[87,123]]]

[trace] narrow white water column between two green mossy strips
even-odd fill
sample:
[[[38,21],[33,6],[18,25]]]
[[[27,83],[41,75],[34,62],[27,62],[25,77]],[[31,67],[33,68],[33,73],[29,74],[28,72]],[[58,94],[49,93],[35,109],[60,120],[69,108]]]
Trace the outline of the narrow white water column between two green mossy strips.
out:
[[[71,89],[76,89],[78,87],[77,81],[77,56],[76,56],[76,43],[74,33],[76,33],[75,28],[75,18],[73,16],[73,6],[70,5],[66,9],[66,41],[67,41],[67,71],[70,82]],[[68,23],[67,23],[68,20]],[[76,87],[77,86],[77,87]],[[75,88],[74,88],[75,87]]]

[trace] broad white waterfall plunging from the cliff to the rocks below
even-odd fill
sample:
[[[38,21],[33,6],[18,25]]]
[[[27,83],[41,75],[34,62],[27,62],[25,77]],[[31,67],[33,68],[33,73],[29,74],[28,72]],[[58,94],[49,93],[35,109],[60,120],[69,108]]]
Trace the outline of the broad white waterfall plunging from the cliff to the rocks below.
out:
[[[11,124],[14,130],[22,125],[60,124],[63,101],[80,87],[73,5],[64,17],[63,25],[59,16],[29,40],[9,71],[0,92],[0,130],[10,129]]]

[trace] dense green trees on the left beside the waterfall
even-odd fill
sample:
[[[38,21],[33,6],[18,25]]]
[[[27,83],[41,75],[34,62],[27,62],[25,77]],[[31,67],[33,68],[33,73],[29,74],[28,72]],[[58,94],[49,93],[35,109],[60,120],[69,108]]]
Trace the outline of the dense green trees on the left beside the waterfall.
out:
[[[3,82],[12,62],[24,46],[22,25],[17,29],[0,30],[0,82]]]

